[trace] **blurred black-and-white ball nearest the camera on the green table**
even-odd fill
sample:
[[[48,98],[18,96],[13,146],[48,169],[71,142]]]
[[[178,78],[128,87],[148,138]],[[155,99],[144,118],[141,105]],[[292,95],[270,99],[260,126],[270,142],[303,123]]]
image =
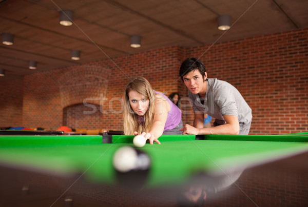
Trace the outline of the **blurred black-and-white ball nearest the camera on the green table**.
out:
[[[117,184],[132,189],[144,187],[151,165],[148,154],[139,149],[124,146],[115,151],[112,162]]]

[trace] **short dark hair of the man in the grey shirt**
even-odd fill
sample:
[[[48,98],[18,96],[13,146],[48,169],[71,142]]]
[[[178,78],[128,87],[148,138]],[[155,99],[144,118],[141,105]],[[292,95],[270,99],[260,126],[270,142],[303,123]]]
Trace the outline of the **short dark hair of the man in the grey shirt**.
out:
[[[202,75],[202,78],[204,79],[204,73],[206,72],[206,70],[202,61],[195,57],[186,58],[180,67],[179,75],[183,80],[184,75],[194,70],[199,70]]]

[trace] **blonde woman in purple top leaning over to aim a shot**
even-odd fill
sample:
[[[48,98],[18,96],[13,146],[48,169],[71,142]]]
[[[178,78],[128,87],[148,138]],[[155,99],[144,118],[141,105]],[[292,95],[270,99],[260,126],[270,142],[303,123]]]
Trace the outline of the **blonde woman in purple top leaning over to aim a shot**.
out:
[[[162,134],[182,134],[183,128],[181,110],[144,77],[134,78],[124,91],[124,134],[138,135],[139,126],[150,144],[160,144]]]

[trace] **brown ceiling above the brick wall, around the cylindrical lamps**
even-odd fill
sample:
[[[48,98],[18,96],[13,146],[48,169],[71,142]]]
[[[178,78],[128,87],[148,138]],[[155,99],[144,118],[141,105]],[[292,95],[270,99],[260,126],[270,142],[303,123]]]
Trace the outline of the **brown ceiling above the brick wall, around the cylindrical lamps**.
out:
[[[26,74],[169,46],[195,47],[308,27],[307,0],[0,0],[0,82]],[[74,12],[72,26],[60,10]],[[232,27],[217,29],[230,15]],[[130,36],[140,35],[140,48]],[[71,60],[71,50],[81,59]],[[37,69],[28,69],[29,60]]]

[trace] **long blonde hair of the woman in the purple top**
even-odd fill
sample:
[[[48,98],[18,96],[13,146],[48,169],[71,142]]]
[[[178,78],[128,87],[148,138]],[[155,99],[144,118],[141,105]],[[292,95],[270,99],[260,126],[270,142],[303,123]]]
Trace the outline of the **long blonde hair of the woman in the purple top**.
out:
[[[133,135],[133,132],[138,132],[139,127],[139,117],[132,110],[129,102],[128,93],[130,91],[136,91],[143,97],[149,100],[149,108],[144,114],[144,122],[142,126],[143,132],[149,132],[153,123],[153,115],[155,114],[154,101],[155,94],[153,92],[152,86],[144,77],[136,77],[126,86],[124,91],[124,134]]]

